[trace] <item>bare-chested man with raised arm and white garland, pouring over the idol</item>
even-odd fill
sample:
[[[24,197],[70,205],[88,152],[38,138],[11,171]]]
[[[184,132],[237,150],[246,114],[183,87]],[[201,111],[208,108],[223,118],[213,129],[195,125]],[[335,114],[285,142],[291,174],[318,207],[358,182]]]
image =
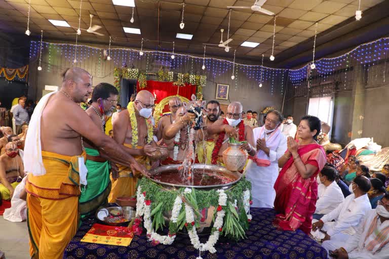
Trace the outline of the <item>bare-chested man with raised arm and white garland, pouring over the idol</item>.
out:
[[[194,113],[187,112],[184,106],[176,111],[175,120],[164,127],[162,138],[168,146],[169,157],[161,165],[181,164],[187,150],[190,122],[196,118]]]

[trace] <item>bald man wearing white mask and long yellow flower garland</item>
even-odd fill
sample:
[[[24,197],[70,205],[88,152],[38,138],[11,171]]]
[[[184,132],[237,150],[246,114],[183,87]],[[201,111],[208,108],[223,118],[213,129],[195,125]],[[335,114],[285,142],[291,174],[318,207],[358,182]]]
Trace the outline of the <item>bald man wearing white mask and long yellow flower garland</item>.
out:
[[[129,102],[127,109],[120,112],[112,123],[113,139],[126,147],[126,150],[135,159],[150,168],[150,159],[159,160],[166,151],[157,148],[153,140],[153,126],[151,122],[154,96],[146,91],[140,91],[134,102]],[[119,167],[119,178],[112,179],[112,189],[108,196],[109,202],[115,202],[116,198],[132,196],[135,194],[139,174],[128,166]]]

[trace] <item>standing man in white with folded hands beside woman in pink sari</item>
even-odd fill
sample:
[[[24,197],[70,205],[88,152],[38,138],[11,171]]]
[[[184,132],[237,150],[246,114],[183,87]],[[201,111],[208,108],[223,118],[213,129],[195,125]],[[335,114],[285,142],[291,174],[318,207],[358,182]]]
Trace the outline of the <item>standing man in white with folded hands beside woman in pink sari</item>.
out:
[[[271,110],[265,124],[253,130],[257,144],[255,156],[250,156],[246,167],[246,178],[251,181],[253,207],[273,208],[276,199],[274,184],[278,177],[278,159],[287,149],[286,138],[279,128],[282,114]]]

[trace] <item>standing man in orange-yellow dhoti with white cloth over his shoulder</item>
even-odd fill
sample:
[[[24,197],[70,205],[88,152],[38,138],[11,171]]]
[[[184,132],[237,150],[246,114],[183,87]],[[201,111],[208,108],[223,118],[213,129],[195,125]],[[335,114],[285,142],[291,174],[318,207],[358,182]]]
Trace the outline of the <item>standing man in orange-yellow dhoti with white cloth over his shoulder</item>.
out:
[[[146,174],[78,105],[91,93],[92,76],[70,68],[60,91],[44,96],[31,116],[23,159],[31,257],[62,258],[77,230],[79,195],[88,184],[82,136],[109,160]]]

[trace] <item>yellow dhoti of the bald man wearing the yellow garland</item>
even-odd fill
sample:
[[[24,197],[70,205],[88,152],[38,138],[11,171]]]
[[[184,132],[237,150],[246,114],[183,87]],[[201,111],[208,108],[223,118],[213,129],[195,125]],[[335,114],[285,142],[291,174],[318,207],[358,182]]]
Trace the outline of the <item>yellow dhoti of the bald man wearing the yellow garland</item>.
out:
[[[132,148],[131,144],[124,144],[128,148]],[[141,149],[142,147],[137,147]],[[146,169],[150,169],[150,160],[147,156],[134,156],[138,163],[143,164]],[[112,188],[108,196],[108,202],[116,202],[116,198],[122,196],[133,196],[136,192],[136,184],[138,183],[138,176],[134,176],[131,168],[118,164],[119,178],[114,180],[110,177]]]

